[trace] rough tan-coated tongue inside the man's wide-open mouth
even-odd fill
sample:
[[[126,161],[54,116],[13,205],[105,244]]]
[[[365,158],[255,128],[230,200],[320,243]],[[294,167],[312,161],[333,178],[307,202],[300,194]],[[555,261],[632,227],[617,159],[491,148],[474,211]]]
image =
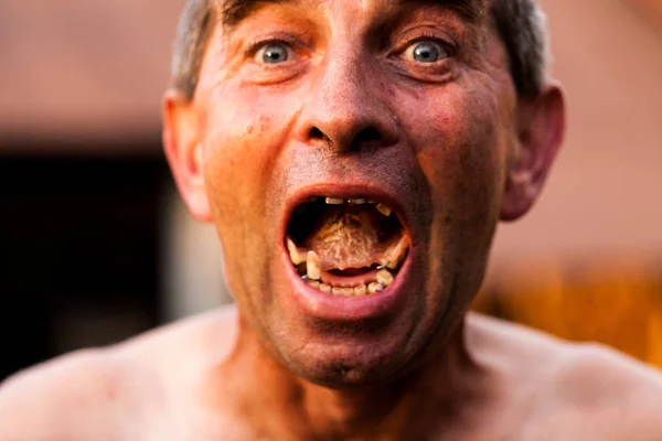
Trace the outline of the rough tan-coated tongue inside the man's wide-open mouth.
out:
[[[378,216],[375,209],[329,207],[303,245],[318,254],[327,271],[371,267],[386,249],[380,241]]]

